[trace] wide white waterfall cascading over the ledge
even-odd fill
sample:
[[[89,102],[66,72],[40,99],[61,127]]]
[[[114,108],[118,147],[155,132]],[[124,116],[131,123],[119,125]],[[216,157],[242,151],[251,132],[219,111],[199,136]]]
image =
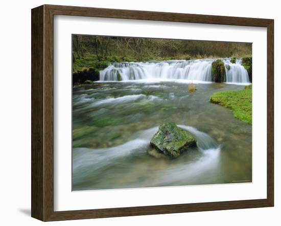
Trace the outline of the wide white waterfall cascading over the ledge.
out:
[[[216,59],[169,60],[149,62],[111,63],[100,72],[101,81],[132,80],[184,80],[194,83],[212,82],[212,62]],[[230,58],[222,59],[226,68],[226,82],[249,83],[247,71],[241,65],[242,58],[231,63]],[[228,70],[229,69],[229,70]]]

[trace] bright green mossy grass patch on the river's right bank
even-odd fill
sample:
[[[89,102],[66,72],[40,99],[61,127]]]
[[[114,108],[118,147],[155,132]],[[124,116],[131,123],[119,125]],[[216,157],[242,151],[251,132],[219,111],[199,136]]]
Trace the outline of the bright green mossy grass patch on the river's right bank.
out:
[[[228,107],[236,118],[252,124],[252,89],[216,92],[210,102]]]

